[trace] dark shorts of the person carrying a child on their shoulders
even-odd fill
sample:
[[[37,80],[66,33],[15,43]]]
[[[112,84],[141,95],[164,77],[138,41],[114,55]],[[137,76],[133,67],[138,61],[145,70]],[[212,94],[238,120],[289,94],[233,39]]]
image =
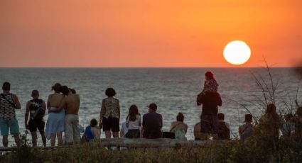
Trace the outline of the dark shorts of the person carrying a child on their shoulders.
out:
[[[200,119],[200,132],[201,133],[214,133],[217,134],[217,117],[204,115]]]

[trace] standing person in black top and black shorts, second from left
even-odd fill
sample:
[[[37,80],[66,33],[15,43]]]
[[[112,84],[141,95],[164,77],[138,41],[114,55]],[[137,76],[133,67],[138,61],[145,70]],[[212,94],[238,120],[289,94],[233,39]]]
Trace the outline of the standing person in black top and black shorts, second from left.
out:
[[[33,99],[26,103],[25,126],[26,129],[31,132],[31,142],[33,143],[33,147],[37,146],[37,129],[41,134],[43,146],[46,147],[46,137],[44,132],[45,122],[43,120],[46,110],[46,104],[45,101],[43,101],[42,99],[38,99],[38,90],[33,90],[31,92],[31,97],[33,97]]]

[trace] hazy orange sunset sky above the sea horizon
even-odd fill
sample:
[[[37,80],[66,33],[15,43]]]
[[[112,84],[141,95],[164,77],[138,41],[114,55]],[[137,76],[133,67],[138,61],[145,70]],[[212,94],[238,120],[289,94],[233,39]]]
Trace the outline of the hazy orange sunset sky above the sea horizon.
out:
[[[242,67],[302,60],[301,0],[1,0],[0,67]]]

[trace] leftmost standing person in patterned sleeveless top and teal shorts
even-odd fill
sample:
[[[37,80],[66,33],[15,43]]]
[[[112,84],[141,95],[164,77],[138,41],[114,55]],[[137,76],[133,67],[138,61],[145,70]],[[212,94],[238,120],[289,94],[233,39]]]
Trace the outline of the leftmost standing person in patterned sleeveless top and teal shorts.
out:
[[[9,130],[14,139],[17,147],[20,147],[19,125],[16,118],[15,109],[20,109],[21,105],[16,94],[11,94],[11,84],[4,82],[2,86],[3,93],[0,96],[0,129],[2,135],[2,143],[4,147],[9,145]]]

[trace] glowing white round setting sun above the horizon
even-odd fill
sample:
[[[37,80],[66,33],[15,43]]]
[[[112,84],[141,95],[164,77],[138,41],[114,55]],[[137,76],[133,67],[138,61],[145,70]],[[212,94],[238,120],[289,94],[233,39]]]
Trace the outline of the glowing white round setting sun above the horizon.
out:
[[[244,64],[249,60],[249,57],[251,57],[251,50],[247,43],[240,40],[234,40],[225,46],[223,56],[230,64]]]

